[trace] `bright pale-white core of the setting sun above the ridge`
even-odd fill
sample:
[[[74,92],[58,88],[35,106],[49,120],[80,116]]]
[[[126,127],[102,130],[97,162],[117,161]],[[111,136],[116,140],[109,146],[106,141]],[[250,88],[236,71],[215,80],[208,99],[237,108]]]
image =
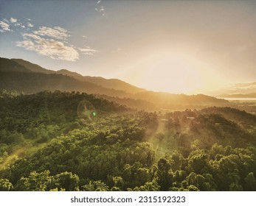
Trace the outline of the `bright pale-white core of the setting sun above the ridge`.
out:
[[[148,81],[148,88],[172,93],[189,93],[201,86],[198,71],[177,57],[153,60],[145,69],[145,80]]]

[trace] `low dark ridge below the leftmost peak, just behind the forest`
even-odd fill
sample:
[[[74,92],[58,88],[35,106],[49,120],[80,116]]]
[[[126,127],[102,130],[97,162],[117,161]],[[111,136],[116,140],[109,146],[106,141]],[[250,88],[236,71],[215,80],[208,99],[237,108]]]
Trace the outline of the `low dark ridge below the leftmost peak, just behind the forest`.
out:
[[[0,88],[17,90],[24,93],[37,93],[43,90],[80,91],[86,93],[102,93],[105,95],[126,96],[119,90],[103,88],[91,82],[81,82],[61,74],[41,74],[24,72],[0,72]]]

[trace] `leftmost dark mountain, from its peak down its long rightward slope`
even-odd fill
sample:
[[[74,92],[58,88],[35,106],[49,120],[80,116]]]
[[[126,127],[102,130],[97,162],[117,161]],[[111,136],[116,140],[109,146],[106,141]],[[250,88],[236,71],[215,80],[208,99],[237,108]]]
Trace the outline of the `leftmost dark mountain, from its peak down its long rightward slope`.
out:
[[[18,62],[21,62],[22,65]],[[28,68],[24,65],[27,65]],[[103,88],[91,82],[82,82],[63,74],[55,74],[55,71],[41,68],[39,65],[24,60],[0,58],[0,74],[0,89],[17,90],[24,93],[36,93],[42,90],[75,90],[86,93],[128,96],[122,90]]]

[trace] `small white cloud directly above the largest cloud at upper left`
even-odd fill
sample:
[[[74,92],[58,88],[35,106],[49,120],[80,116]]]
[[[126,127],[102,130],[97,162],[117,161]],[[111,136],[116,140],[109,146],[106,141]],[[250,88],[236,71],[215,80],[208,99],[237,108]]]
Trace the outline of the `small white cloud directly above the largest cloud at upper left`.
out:
[[[51,38],[56,38],[60,40],[66,40],[70,37],[66,29],[61,28],[60,26],[55,26],[53,28],[41,26],[38,31],[34,31],[35,35],[48,36]]]

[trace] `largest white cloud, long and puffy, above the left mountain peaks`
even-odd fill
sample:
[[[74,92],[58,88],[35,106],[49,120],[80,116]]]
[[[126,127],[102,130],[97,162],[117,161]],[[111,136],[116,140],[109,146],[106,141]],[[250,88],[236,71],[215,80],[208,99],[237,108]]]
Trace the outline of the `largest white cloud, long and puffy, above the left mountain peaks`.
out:
[[[41,38],[39,35],[25,33],[24,40],[17,41],[16,46],[23,47],[38,54],[51,57],[55,60],[76,61],[78,52],[72,46],[66,46],[58,40]]]

